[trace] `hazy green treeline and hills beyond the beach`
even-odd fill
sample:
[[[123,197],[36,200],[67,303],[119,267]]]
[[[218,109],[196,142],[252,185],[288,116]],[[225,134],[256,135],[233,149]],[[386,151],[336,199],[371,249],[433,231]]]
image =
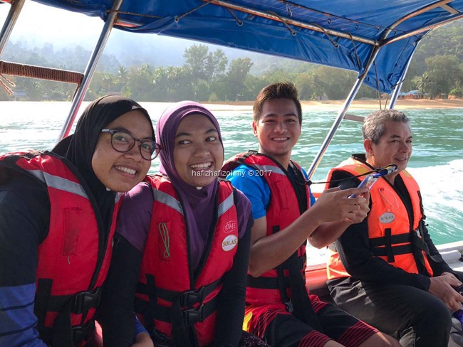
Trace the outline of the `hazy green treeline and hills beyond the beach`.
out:
[[[17,42],[9,43],[2,59],[83,71],[88,56],[90,51],[80,46],[53,50],[46,43],[42,48],[29,49]],[[253,53],[229,61],[224,50],[212,51],[202,44],[186,48],[183,57],[182,66],[128,67],[113,55],[103,55],[85,100],[108,93],[153,102],[254,100],[262,87],[279,80],[293,81],[303,100],[340,100],[348,95],[356,77],[356,73],[347,70]],[[433,31],[420,42],[402,91],[419,90],[429,97],[462,97],[462,58],[462,22]],[[16,84],[12,88],[16,93],[9,96],[0,87],[0,100],[71,100],[76,87],[28,78],[9,79]],[[363,86],[357,97],[378,95]]]

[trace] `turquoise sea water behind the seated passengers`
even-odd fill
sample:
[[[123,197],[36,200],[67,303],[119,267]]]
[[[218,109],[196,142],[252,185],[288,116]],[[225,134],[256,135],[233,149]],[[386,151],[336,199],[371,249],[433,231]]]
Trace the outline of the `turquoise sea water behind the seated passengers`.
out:
[[[166,103],[143,102],[153,119]],[[68,102],[0,102],[0,154],[21,149],[50,149],[66,119]],[[225,157],[257,149],[251,132],[251,107],[210,105],[222,127]],[[81,109],[83,110],[83,109]],[[422,189],[432,239],[437,245],[463,240],[463,110],[407,110],[413,129],[410,172]],[[328,133],[335,111],[303,109],[303,131],[293,150],[308,169]],[[369,111],[355,111],[365,115]],[[331,167],[362,151],[360,123],[343,121],[312,181],[323,181]],[[155,159],[151,172],[157,171]]]

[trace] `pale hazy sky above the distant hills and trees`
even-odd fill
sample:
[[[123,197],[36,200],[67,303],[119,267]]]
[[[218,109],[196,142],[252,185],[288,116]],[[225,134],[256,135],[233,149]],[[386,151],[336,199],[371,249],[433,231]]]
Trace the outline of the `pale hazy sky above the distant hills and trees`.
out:
[[[10,8],[9,4],[0,3],[0,26],[3,26]],[[30,48],[41,48],[43,43],[48,42],[54,48],[83,46],[87,50],[93,50],[103,26],[104,22],[99,17],[85,16],[26,0],[9,41],[25,41]],[[183,63],[184,49],[194,43],[198,42],[114,29],[105,47],[105,53],[115,55],[121,63],[128,65],[131,65],[131,61],[124,61],[125,58],[146,60],[146,57],[149,57],[152,58],[151,63],[156,65],[180,66]],[[234,48],[208,46],[211,50],[226,50],[231,59],[244,55],[244,51]],[[160,50],[169,54],[158,55]]]

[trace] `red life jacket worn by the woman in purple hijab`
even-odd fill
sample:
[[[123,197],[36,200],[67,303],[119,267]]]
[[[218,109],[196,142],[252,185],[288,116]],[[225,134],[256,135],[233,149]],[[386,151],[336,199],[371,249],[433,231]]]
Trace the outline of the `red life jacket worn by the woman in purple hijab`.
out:
[[[188,225],[174,186],[163,176],[147,180],[154,204],[135,311],[155,343],[173,340],[175,346],[209,346],[222,277],[231,269],[238,245],[234,188],[229,181],[219,181],[217,220],[211,225],[215,228],[209,230],[205,253],[194,270],[189,260]]]

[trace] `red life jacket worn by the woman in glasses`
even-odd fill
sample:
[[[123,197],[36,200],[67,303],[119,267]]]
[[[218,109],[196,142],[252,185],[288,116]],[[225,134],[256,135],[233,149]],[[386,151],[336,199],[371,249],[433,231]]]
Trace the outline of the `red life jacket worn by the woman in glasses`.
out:
[[[123,195],[115,196],[113,224],[105,235],[91,193],[65,159],[51,152],[18,152],[0,156],[0,165],[46,184],[50,199],[48,235],[38,246],[34,314],[40,337],[52,346],[83,346],[95,330]]]

